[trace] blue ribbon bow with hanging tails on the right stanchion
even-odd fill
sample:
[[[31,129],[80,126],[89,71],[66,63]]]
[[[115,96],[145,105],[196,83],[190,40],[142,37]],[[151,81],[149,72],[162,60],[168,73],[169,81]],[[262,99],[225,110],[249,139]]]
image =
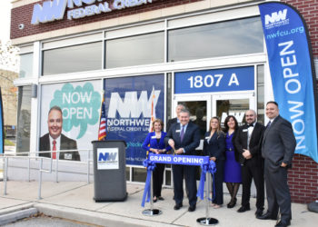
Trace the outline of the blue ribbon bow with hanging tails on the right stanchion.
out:
[[[198,192],[196,193],[197,197],[200,197],[201,200],[204,200],[204,182],[205,182],[205,175],[206,173],[211,173],[213,175],[213,179],[214,179],[214,173],[216,172],[216,166],[214,161],[209,161],[208,163],[203,163],[201,164],[201,177],[200,177],[200,183],[199,183],[199,189]],[[214,180],[213,180],[213,184],[214,184]],[[206,192],[208,193],[208,192]],[[214,190],[214,196],[215,196],[215,190]],[[207,195],[207,197],[209,197]],[[209,198],[209,200],[211,200]]]

